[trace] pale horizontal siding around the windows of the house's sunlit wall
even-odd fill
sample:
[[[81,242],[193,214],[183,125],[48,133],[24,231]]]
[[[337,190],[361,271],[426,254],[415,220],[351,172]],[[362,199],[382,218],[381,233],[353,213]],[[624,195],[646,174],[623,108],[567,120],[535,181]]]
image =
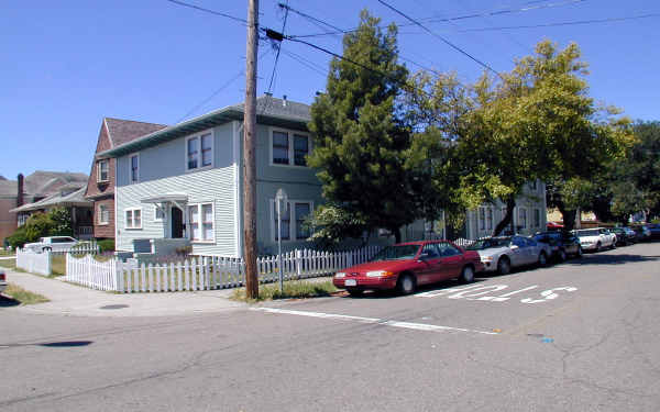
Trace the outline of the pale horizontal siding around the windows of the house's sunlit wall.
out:
[[[168,235],[168,221],[154,221],[153,204],[141,200],[164,193],[186,193],[188,204],[212,203],[215,242],[193,242],[194,254],[235,256],[235,180],[232,124],[213,129],[213,168],[186,171],[186,140],[177,138],[140,152],[140,181],[129,183],[130,157],[118,158],[117,248],[132,250],[133,240]],[[142,229],[125,229],[125,210],[142,209]]]

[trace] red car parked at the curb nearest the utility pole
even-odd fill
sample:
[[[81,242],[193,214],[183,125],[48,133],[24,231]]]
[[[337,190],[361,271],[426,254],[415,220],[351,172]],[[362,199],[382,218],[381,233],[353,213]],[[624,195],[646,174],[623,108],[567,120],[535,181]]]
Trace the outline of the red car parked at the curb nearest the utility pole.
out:
[[[370,261],[337,272],[332,283],[351,296],[385,289],[409,294],[420,285],[446,279],[471,282],[481,270],[483,265],[475,252],[449,241],[420,241],[387,246]]]

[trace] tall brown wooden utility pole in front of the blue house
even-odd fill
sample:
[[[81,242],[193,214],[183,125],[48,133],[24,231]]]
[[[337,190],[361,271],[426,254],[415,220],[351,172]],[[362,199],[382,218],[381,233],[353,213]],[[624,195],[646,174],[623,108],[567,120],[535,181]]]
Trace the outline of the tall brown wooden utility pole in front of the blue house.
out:
[[[245,55],[245,104],[243,113],[243,236],[245,258],[245,297],[258,297],[256,277],[256,49],[258,0],[248,0],[248,53]]]

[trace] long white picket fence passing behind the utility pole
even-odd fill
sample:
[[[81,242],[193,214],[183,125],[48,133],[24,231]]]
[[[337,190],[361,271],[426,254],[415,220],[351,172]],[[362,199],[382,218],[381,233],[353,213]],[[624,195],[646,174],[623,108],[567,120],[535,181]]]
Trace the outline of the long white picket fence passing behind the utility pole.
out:
[[[334,274],[343,268],[369,260],[381,249],[369,246],[350,252],[294,250],[283,255],[282,268],[277,256],[256,260],[262,283],[279,279],[304,279]],[[66,257],[65,280],[100,290],[134,292],[174,292],[241,287],[245,282],[242,259],[218,256],[196,256],[185,261],[169,264],[142,264],[118,261],[111,258],[98,261],[91,255]]]

